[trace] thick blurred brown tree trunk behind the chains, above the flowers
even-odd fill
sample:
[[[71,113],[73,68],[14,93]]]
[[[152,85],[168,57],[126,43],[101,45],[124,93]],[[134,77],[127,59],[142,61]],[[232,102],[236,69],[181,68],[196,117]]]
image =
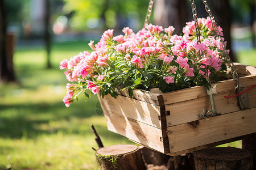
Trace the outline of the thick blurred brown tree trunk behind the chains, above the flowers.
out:
[[[227,49],[230,49],[229,56],[232,58],[232,61],[236,61],[231,48],[232,42],[230,37],[230,27],[232,22],[232,12],[229,5],[229,0],[216,0],[207,2],[213,16],[216,19],[217,24],[219,24],[224,30],[225,41],[228,41]],[[185,0],[155,1],[154,20],[156,24],[164,25],[164,27],[172,25],[175,27],[175,33],[180,34],[185,23],[193,19],[191,8],[188,8],[188,5],[191,6],[191,3],[188,4]],[[196,6],[198,18],[205,18],[209,16],[207,12],[205,12],[203,2],[197,1]]]

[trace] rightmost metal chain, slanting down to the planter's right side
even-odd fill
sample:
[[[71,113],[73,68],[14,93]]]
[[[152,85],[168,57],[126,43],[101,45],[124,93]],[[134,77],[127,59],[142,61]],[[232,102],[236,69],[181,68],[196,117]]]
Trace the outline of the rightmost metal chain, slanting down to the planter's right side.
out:
[[[210,11],[210,8],[209,8],[209,6],[208,6],[208,4],[207,4],[207,1],[206,1],[206,0],[202,0],[202,1],[203,1],[204,5],[205,5],[205,10],[206,10],[206,11],[208,12],[208,14],[209,14],[210,20],[211,20],[211,22],[212,22],[212,27],[214,28],[214,31],[216,32],[218,39],[220,39],[220,41],[221,41],[222,48],[223,48],[223,53],[224,53],[224,57],[226,57],[226,59],[227,59],[229,65],[230,65],[230,67],[231,67],[233,79],[237,80],[237,85],[238,85],[239,87],[241,87],[240,78],[239,78],[239,76],[238,76],[238,74],[237,74],[237,70],[234,68],[234,64],[233,64],[231,58],[229,57],[228,50],[226,49],[226,44],[224,43],[224,41],[223,41],[222,38],[221,38],[220,31],[218,30],[218,27],[217,27],[217,23],[216,23],[215,20],[214,20],[214,17],[213,17],[213,15],[212,15],[212,12]]]

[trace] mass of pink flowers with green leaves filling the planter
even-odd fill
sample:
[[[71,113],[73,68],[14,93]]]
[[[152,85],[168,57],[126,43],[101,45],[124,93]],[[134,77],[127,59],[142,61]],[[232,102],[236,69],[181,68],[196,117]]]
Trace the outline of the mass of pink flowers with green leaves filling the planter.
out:
[[[174,27],[152,24],[138,33],[123,28],[124,35],[118,36],[113,36],[113,29],[105,31],[97,44],[90,41],[92,52],[60,63],[69,82],[75,82],[67,84],[65,105],[69,107],[80,92],[86,97],[90,93],[116,97],[118,91],[128,90],[132,97],[134,88],[162,92],[200,85],[209,88],[209,80],[218,81],[226,70],[223,44],[209,18],[198,22],[201,42],[197,42],[194,21],[185,25],[183,36],[172,35]]]

